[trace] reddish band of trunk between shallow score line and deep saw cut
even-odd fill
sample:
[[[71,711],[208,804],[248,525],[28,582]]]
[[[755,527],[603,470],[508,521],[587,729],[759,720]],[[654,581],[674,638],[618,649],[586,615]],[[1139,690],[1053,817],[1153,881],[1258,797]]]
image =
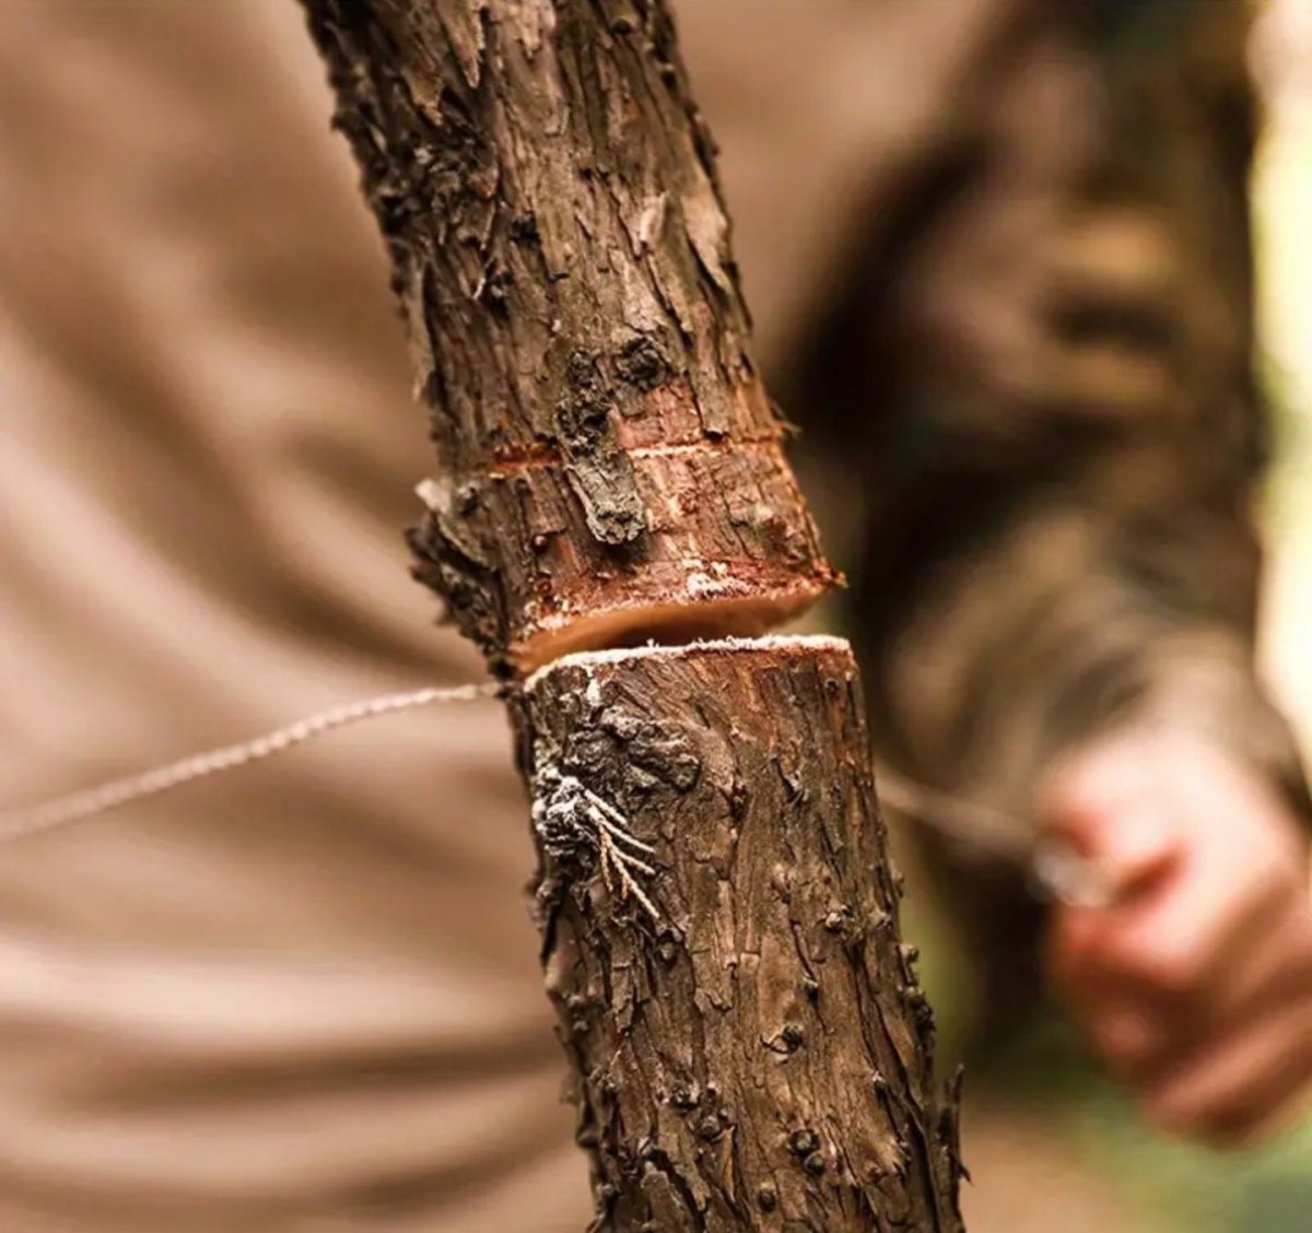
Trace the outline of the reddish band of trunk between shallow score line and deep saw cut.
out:
[[[459,496],[429,481],[419,576],[521,672],[579,648],[764,634],[832,584],[810,531],[779,514],[802,497],[775,443],[647,447],[631,464],[647,530],[619,546],[577,526],[551,458],[501,463]],[[512,582],[496,561],[520,557]]]

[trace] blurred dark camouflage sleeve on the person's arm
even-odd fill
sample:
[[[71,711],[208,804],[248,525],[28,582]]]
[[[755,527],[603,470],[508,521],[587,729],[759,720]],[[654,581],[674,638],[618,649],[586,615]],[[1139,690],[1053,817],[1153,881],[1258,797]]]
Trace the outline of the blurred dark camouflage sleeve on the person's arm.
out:
[[[1244,5],[1035,9],[875,222],[807,371],[867,493],[882,754],[1025,816],[1063,753],[1165,721],[1302,803],[1253,668]]]

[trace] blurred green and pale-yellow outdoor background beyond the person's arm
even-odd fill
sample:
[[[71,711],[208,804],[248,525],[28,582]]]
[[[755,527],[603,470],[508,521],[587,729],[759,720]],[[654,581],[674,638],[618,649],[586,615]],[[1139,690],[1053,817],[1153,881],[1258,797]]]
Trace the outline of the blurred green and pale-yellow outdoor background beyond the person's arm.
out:
[[[1267,117],[1253,205],[1262,371],[1277,409],[1262,661],[1312,756],[1312,3],[1263,5],[1253,46]],[[924,905],[921,905],[924,909]],[[913,913],[916,904],[912,904]],[[909,931],[933,937],[921,914]],[[933,943],[928,980],[951,1051],[959,973]],[[1143,1128],[1052,1015],[967,1083],[972,1233],[1307,1233],[1312,1119],[1224,1156]]]

